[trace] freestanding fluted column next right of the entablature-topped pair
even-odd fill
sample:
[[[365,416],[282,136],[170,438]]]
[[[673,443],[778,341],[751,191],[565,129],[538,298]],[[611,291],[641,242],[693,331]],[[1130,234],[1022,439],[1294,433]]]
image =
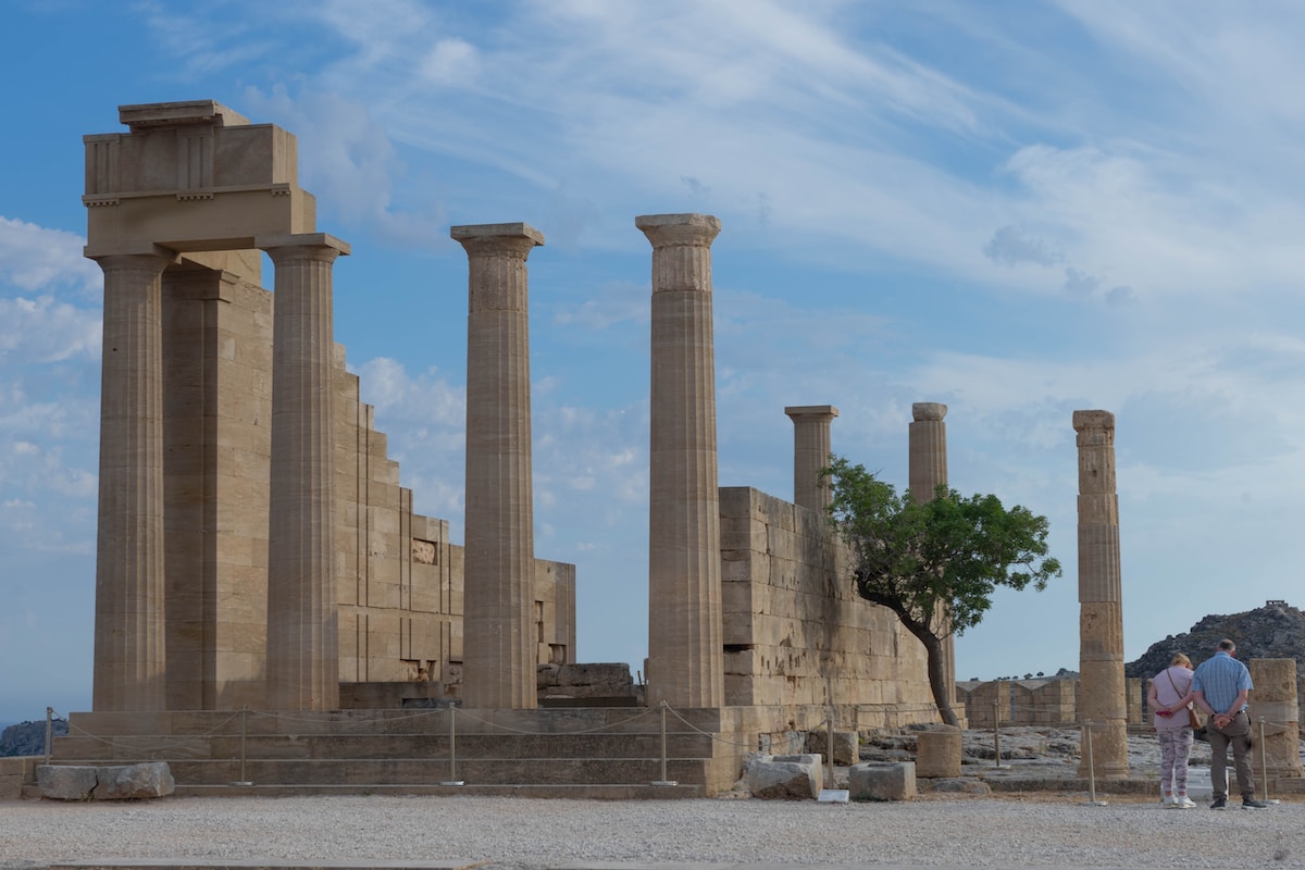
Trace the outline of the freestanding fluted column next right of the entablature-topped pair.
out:
[[[453,227],[468,261],[467,480],[462,699],[536,706],[530,317],[526,258],[544,236],[525,223]]]

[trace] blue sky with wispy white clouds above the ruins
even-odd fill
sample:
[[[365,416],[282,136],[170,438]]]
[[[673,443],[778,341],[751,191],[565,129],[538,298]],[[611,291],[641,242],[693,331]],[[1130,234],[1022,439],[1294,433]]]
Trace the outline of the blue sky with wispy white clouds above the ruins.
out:
[[[100,274],[82,143],[215,99],[299,137],[337,340],[419,511],[462,540],[466,256],[525,220],[536,554],[583,661],[646,655],[650,247],[714,244],[722,485],[792,496],[790,404],[906,485],[1051,519],[958,676],[1078,667],[1071,413],[1117,417],[1131,660],[1296,590],[1305,7],[963,0],[0,0],[0,721],[90,704]],[[270,271],[268,273],[270,274]]]

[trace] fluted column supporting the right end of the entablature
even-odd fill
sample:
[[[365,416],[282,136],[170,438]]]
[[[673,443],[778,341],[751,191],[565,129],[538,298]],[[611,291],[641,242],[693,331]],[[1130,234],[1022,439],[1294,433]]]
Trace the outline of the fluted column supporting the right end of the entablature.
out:
[[[275,266],[268,530],[268,704],[339,706],[331,269],[325,233],[258,239]]]

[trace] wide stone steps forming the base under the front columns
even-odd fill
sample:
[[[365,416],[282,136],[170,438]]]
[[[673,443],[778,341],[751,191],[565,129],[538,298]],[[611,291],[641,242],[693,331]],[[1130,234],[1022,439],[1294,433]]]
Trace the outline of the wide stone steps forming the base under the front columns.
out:
[[[177,794],[702,797],[739,777],[720,713],[666,716],[664,771],[659,710],[598,707],[73,713],[51,763],[162,760]]]

